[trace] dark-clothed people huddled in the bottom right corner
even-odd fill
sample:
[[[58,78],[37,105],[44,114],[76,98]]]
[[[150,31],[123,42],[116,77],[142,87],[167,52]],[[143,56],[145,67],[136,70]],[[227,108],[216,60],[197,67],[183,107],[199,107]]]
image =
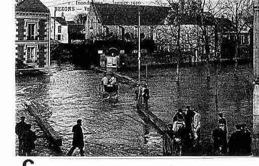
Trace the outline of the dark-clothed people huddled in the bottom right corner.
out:
[[[219,113],[218,127],[213,130],[213,147],[217,155],[251,155],[251,133],[246,124],[236,124],[227,141],[227,122]]]

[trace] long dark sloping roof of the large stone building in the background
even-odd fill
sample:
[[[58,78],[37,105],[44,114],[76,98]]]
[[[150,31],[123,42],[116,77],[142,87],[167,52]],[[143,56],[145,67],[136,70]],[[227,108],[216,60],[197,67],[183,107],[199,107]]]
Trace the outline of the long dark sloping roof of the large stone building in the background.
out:
[[[170,10],[158,6],[114,4],[94,4],[92,7],[103,25],[138,25],[138,9],[140,25],[161,25]]]

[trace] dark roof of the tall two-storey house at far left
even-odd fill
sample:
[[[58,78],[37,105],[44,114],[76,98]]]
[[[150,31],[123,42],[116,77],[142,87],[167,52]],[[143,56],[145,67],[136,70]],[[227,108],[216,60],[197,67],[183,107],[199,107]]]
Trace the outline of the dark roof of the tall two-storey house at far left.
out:
[[[15,7],[16,12],[49,13],[48,8],[39,0],[24,0]]]

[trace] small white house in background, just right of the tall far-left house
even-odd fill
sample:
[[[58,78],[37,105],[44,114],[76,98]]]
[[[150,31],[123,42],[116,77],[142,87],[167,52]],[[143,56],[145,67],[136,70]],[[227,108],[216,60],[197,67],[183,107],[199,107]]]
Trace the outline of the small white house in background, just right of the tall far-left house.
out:
[[[61,17],[51,17],[50,38],[60,43],[68,43],[68,24],[62,13]]]

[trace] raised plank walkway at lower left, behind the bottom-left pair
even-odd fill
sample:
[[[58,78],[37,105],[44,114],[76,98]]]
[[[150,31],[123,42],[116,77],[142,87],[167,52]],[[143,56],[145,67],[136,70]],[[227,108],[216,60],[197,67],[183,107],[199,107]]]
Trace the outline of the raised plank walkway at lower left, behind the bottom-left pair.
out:
[[[49,145],[52,144],[54,147],[59,147],[62,145],[62,137],[49,125],[49,123],[40,115],[34,103],[23,101],[23,105],[26,108],[26,111],[32,115],[41,130],[44,132]]]

